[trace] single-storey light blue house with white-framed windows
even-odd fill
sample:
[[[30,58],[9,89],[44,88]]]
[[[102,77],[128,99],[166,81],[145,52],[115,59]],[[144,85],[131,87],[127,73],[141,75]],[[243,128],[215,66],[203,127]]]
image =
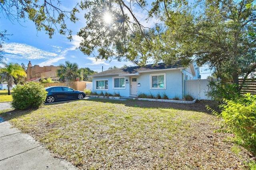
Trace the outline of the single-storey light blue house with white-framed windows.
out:
[[[168,98],[184,95],[184,81],[199,79],[199,69],[191,63],[183,67],[180,63],[165,66],[146,65],[123,69],[109,69],[92,77],[92,91],[96,93],[119,93],[122,97],[137,97],[139,94],[167,95]]]

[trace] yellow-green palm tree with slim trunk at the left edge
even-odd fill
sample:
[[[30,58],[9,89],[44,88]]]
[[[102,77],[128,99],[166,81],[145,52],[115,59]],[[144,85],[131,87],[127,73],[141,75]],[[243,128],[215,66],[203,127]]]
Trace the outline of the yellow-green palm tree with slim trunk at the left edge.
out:
[[[10,87],[12,87],[14,83],[14,78],[18,78],[18,76],[26,77],[26,72],[22,68],[21,65],[18,63],[4,63],[1,62],[4,65],[4,68],[0,68],[0,73],[2,75],[5,75],[5,80],[7,80],[8,85],[8,95],[11,95],[10,93]]]

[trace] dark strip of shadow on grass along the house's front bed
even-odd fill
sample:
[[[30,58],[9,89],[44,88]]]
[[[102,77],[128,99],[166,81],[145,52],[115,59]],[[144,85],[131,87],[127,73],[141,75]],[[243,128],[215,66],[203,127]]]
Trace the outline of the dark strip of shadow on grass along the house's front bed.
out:
[[[118,103],[124,104],[128,107],[142,107],[142,108],[161,108],[161,109],[178,109],[184,111],[196,111],[211,113],[206,109],[210,106],[212,109],[218,109],[216,103],[213,101],[196,101],[196,103],[170,103],[170,102],[160,102],[160,101],[141,101],[141,100],[115,100],[115,99],[100,99],[100,98],[90,98],[89,101],[96,101],[102,103]]]

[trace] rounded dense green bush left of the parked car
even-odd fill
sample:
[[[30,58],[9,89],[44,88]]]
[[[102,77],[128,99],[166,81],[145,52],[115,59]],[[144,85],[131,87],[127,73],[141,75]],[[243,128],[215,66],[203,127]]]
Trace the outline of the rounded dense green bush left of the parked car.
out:
[[[12,107],[18,110],[37,109],[44,104],[47,91],[40,83],[29,82],[13,88]]]

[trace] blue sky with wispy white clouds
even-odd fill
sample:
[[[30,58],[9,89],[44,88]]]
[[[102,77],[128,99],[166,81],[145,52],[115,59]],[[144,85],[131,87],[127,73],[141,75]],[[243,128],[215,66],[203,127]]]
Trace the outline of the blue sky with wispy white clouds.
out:
[[[68,7],[74,7],[75,0],[62,0],[63,9]],[[142,22],[143,25],[150,27],[153,22],[147,23],[146,12],[141,10],[134,10],[135,16]],[[88,67],[93,71],[101,72],[107,70],[110,67],[122,67],[123,65],[134,66],[131,62],[123,62],[112,59],[111,61],[97,60],[93,56],[84,55],[79,49],[79,43],[82,40],[76,33],[84,26],[82,12],[78,15],[80,20],[74,23],[68,23],[68,28],[72,32],[73,40],[70,41],[64,35],[54,34],[52,39],[49,38],[48,34],[44,31],[38,32],[34,23],[28,19],[20,20],[9,20],[0,13],[0,30],[7,30],[8,40],[4,41],[4,62],[5,63],[24,63],[26,66],[29,61],[32,65],[43,66],[58,66],[64,64],[65,61],[71,63],[77,63],[79,68]],[[207,67],[200,67],[200,74],[202,79],[206,79],[210,75],[209,70],[205,70]]]

